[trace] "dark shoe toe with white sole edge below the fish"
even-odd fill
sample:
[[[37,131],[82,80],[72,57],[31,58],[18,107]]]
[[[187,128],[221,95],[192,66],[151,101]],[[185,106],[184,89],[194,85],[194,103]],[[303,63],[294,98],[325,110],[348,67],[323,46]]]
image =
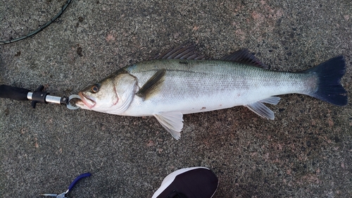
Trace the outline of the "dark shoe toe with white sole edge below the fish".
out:
[[[151,198],[210,198],[217,188],[218,178],[209,168],[182,168],[166,176]]]

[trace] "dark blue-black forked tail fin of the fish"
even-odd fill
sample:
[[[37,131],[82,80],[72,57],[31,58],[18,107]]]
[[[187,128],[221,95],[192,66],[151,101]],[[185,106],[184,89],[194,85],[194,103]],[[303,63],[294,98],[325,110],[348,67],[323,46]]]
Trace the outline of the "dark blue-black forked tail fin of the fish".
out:
[[[318,75],[318,89],[309,93],[311,97],[327,101],[337,106],[347,104],[347,92],[341,85],[341,78],[346,72],[344,56],[331,58],[315,68],[304,71]]]

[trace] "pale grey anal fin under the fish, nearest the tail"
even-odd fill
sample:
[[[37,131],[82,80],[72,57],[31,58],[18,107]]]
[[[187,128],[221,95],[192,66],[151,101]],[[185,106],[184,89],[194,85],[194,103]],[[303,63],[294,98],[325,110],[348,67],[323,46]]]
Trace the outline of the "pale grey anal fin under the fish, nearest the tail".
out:
[[[280,100],[279,97],[269,97],[267,99],[256,101],[252,104],[247,104],[246,107],[248,109],[251,109],[251,111],[253,111],[260,117],[274,120],[275,118],[274,112],[272,112],[267,106],[265,106],[263,102],[268,104],[277,104],[279,103],[279,100]]]

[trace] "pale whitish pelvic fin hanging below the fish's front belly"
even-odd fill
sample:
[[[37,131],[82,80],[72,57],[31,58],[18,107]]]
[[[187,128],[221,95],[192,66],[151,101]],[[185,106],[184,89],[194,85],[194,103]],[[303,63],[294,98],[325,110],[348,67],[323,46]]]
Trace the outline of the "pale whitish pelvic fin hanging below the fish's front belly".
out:
[[[168,132],[171,133],[172,137],[179,140],[181,137],[181,130],[183,128],[183,114],[180,112],[161,112],[153,115],[156,117],[159,123]]]

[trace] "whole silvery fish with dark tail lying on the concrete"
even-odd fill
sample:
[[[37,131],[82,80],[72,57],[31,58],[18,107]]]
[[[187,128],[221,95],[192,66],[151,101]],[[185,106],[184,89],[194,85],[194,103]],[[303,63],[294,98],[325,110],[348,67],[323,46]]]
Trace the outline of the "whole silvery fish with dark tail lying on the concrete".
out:
[[[246,106],[273,120],[275,113],[265,104],[278,104],[282,94],[306,94],[345,106],[345,72],[344,56],[294,73],[268,69],[249,49],[213,60],[199,56],[195,44],[184,44],[89,85],[75,105],[120,116],[154,116],[179,140],[188,113]]]

